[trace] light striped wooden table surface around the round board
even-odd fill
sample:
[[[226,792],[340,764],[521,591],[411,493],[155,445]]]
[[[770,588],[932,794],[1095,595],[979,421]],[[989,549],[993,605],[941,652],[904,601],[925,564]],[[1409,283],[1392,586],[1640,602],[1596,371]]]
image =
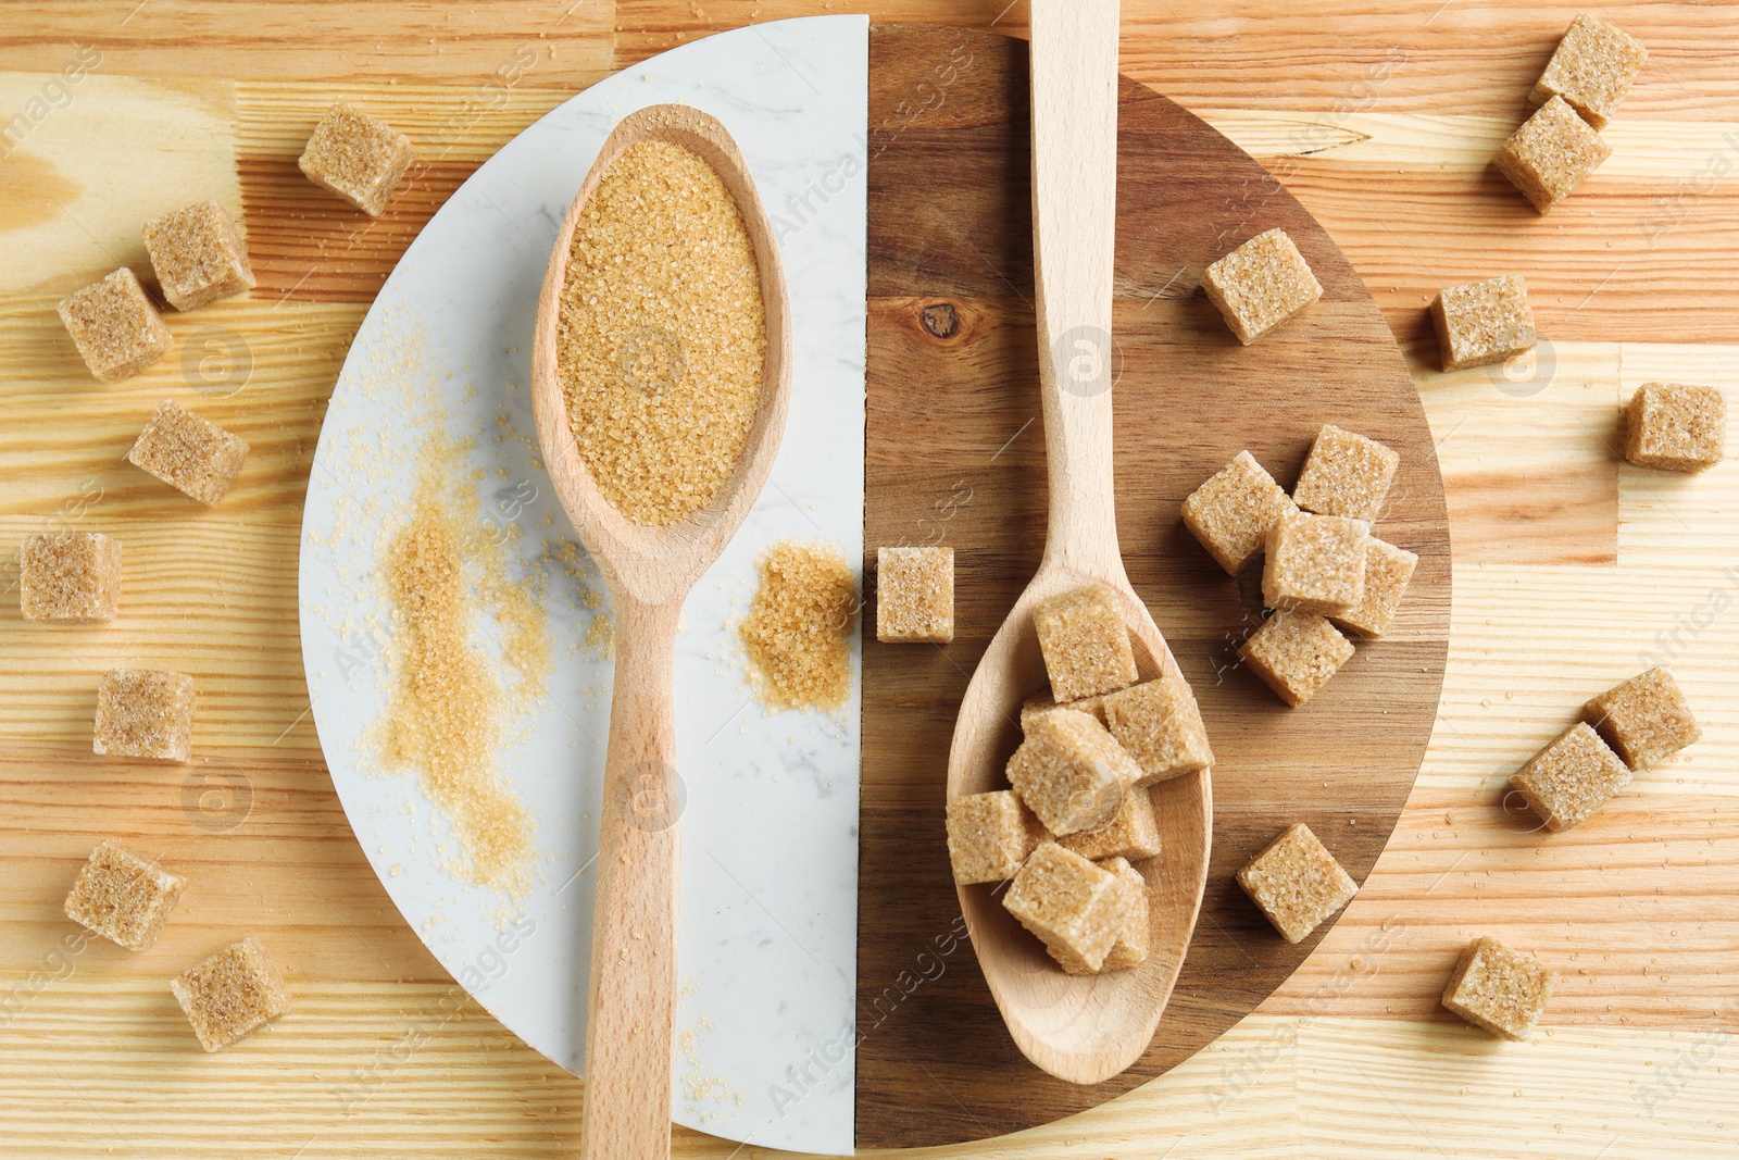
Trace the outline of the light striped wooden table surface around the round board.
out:
[[[1024,5],[1005,3],[870,10],[1021,31]],[[0,541],[103,525],[139,550],[115,626],[38,631],[0,609],[0,1155],[572,1151],[579,1083],[463,998],[376,883],[332,793],[296,631],[310,457],[370,296],[503,141],[683,40],[847,7],[7,3]],[[1619,400],[1643,381],[1739,386],[1736,10],[1600,9],[1652,57],[1605,134],[1612,160],[1537,217],[1487,162],[1576,5],[1123,7],[1123,73],[1263,158],[1407,351],[1449,492],[1443,699],[1363,892],[1254,1016],[1099,1110],[927,1155],[1732,1155],[1739,466],[1649,473],[1621,466],[1612,442]],[[423,158],[374,226],[330,212],[296,172],[339,96],[384,110]],[[54,301],[115,264],[144,268],[139,223],[205,195],[245,214],[257,290],[172,317],[169,360],[96,384]],[[1502,271],[1532,287],[1548,339],[1532,369],[1431,370],[1429,296]],[[120,463],[165,395],[254,445],[216,511]],[[1704,741],[1579,830],[1529,833],[1502,809],[1508,774],[1584,697],[1659,661]],[[195,765],[90,757],[96,675],[120,663],[198,677]],[[177,910],[172,946],[70,953],[66,883],[117,830],[202,889]],[[240,932],[296,963],[297,1014],[243,1049],[190,1052],[162,979],[188,946]],[[1436,1010],[1456,948],[1482,932],[1563,970],[1527,1045]],[[676,1153],[758,1155],[690,1132]]]

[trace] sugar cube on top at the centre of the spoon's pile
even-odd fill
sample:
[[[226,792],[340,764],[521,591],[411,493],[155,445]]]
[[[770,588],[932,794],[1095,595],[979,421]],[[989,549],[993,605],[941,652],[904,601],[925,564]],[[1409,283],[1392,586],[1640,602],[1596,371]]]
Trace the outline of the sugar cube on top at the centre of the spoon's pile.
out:
[[[1141,767],[1087,713],[1042,713],[1009,758],[1009,784],[1054,835],[1097,830]]]

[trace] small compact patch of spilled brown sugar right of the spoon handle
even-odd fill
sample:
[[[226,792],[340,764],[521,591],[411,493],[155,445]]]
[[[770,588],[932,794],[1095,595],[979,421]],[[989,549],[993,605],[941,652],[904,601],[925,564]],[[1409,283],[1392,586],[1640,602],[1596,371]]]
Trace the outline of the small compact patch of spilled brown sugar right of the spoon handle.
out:
[[[755,696],[770,710],[836,710],[852,690],[857,586],[828,544],[781,541],[760,560],[760,586],[737,637]]]

